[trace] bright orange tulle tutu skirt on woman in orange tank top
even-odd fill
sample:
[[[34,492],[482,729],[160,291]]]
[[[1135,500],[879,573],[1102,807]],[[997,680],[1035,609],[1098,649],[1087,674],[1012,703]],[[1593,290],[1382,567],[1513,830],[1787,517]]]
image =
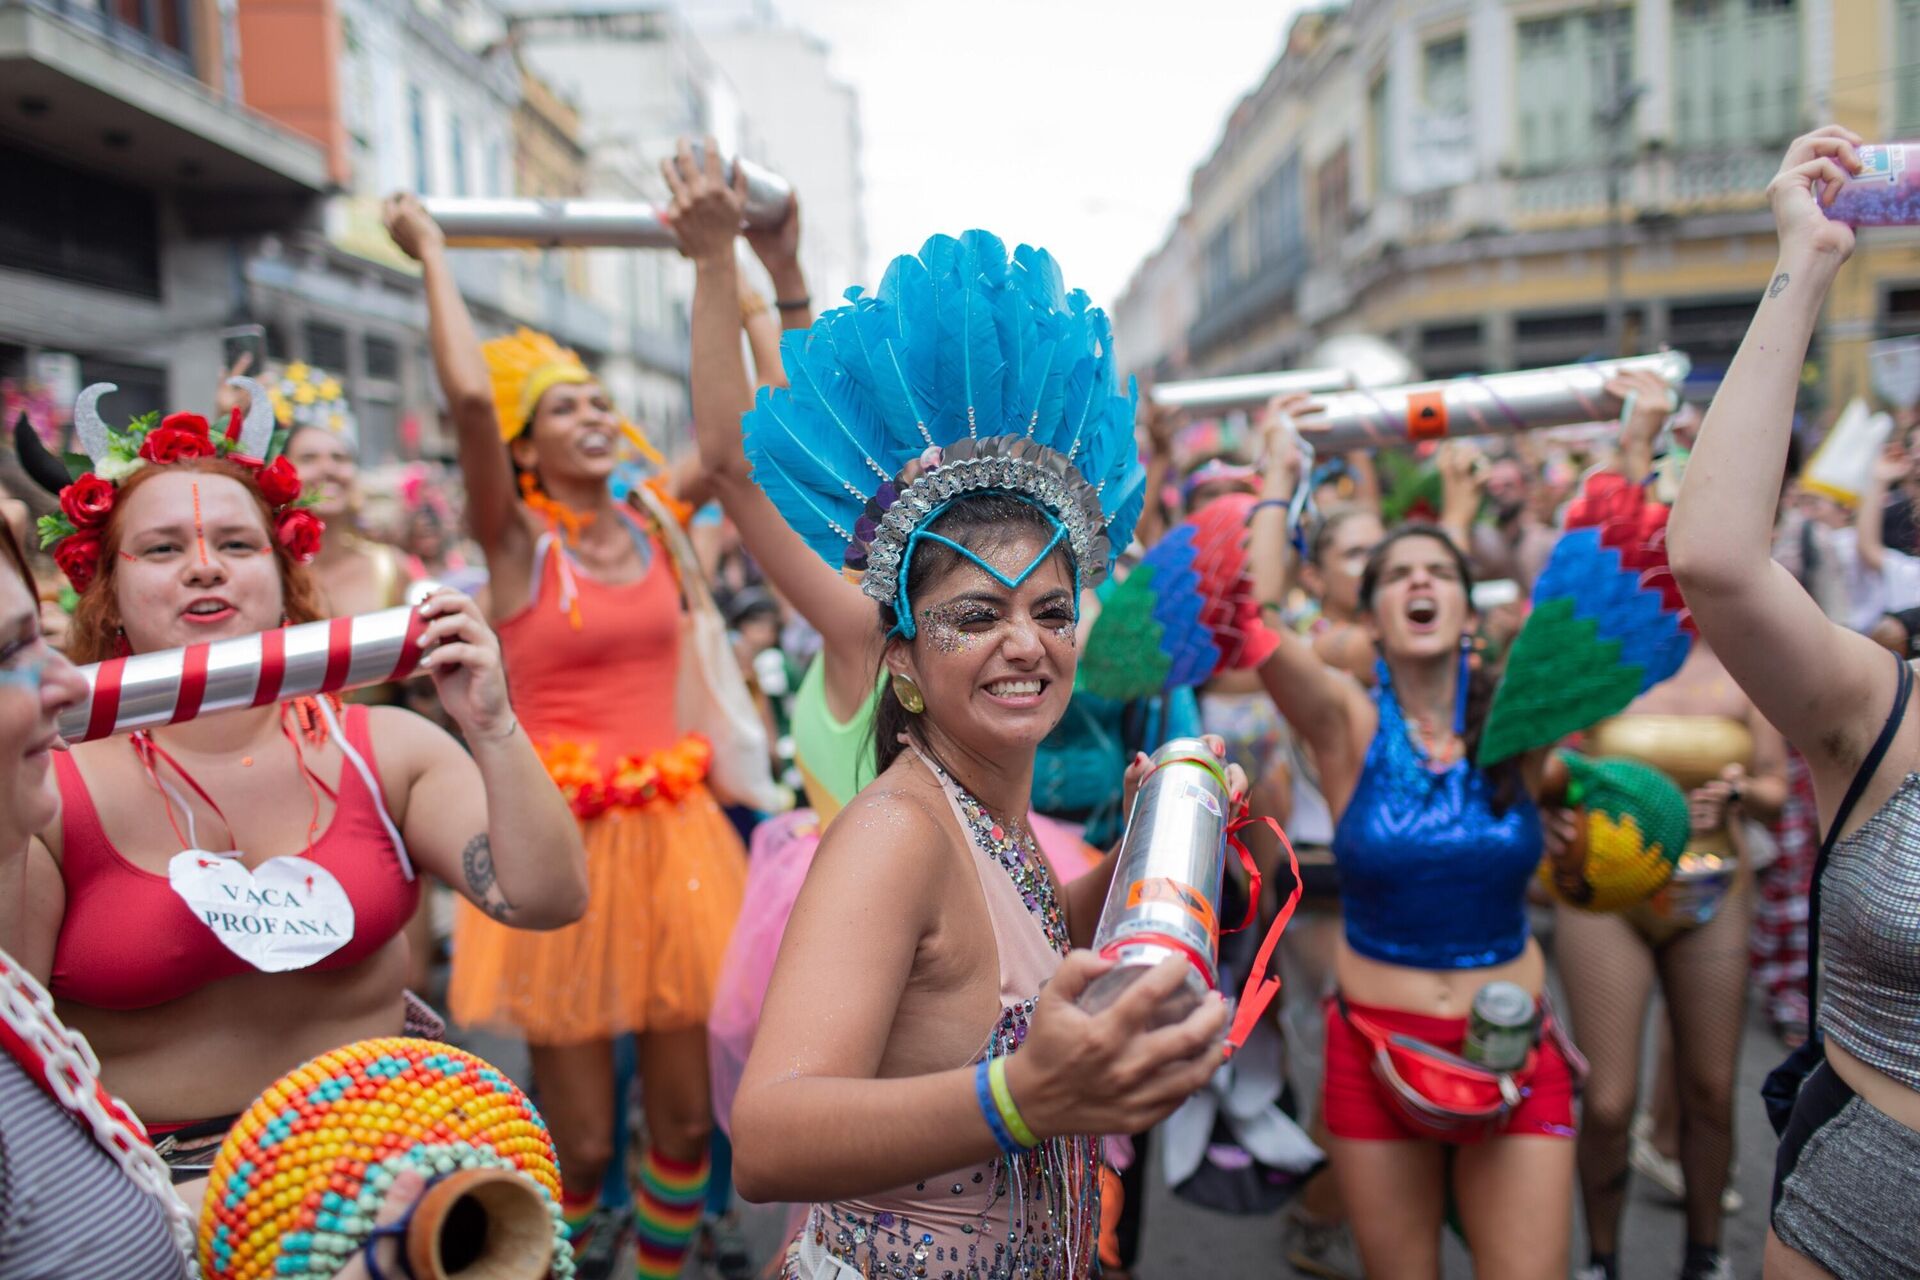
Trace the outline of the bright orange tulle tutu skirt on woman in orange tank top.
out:
[[[459,902],[453,1019],[532,1044],[703,1027],[747,883],[733,825],[699,787],[678,802],[588,818],[580,835],[580,921],[549,933],[507,929]]]

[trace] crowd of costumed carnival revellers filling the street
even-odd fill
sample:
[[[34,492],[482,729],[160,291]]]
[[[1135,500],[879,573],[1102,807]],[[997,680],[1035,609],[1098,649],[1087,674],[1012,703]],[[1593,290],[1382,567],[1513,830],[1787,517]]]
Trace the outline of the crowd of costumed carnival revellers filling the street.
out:
[[[799,205],[743,232],[710,142],[662,175],[697,280],[695,439],[662,459],[572,351],[482,340],[438,226],[394,196],[451,466],[371,501],[351,416],[300,413],[311,370],[286,395],[246,361],[207,416],[123,426],[83,395],[79,474],[48,480],[17,436],[6,474],[48,493],[13,493],[0,537],[0,1276],[188,1274],[255,1096],[336,1046],[474,1029],[528,1046],[574,1274],[699,1251],[722,1276],[1125,1276],[1152,1134],[1219,1084],[1233,1013],[1162,1017],[1185,958],[1081,1002],[1173,737],[1204,737],[1298,860],[1296,881],[1254,841],[1263,887],[1219,913],[1275,919],[1298,887],[1263,1034],[1311,1155],[1231,1159],[1217,1128],[1217,1178],[1175,1188],[1279,1211],[1273,1268],[1438,1276],[1453,1232],[1480,1276],[1619,1280],[1640,1173],[1684,1205],[1682,1280],[1732,1276],[1732,1171],[1768,1159],[1734,1150],[1759,998],[1791,1052],[1766,1274],[1920,1274],[1920,420],[1845,493],[1801,476],[1795,407],[1853,248],[1820,184],[1857,146],[1822,129],[1786,155],[1776,274],[1705,415],[1622,372],[1617,430],[1392,466],[1315,461],[1309,397],[1204,422],[1137,397],[1062,267],[985,232],[816,313]],[[1601,474],[1670,505],[1699,635],[1580,741],[1684,789],[1711,871],[1615,912],[1548,890],[1586,839],[1553,750],[1480,752],[1561,514]],[[1112,583],[1223,501],[1248,512],[1260,660],[1127,702],[1079,689]],[[411,583],[436,583],[428,679],[60,739],[75,664]],[[196,910],[230,862],[298,865],[324,940],[267,952]],[[1490,1111],[1392,1069],[1409,1046],[1471,1069],[1496,988],[1526,1052]],[[1254,1192],[1221,1192],[1231,1169]],[[420,1192],[396,1184],[382,1221]],[[735,1194],[795,1207],[774,1257]],[[405,1274],[376,1242],[340,1274]]]

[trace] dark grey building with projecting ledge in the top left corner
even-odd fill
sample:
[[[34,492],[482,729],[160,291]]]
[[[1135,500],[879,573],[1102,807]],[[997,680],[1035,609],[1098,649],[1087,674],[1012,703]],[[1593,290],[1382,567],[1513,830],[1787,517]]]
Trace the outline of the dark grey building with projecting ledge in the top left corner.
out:
[[[205,407],[242,263],[307,215],[326,152],[248,107],[230,6],[0,0],[0,384],[58,422]],[[8,424],[12,426],[12,424]]]

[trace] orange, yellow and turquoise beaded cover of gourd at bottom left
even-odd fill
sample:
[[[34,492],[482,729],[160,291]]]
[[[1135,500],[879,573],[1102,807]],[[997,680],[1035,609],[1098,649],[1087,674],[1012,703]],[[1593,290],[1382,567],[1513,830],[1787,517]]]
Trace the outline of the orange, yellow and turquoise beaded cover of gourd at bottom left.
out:
[[[553,1270],[574,1274],[561,1173],[540,1111],[486,1061],[434,1040],[361,1040],[267,1088],[213,1159],[200,1215],[207,1280],[332,1276],[359,1253],[394,1176],[513,1169],[540,1188]]]

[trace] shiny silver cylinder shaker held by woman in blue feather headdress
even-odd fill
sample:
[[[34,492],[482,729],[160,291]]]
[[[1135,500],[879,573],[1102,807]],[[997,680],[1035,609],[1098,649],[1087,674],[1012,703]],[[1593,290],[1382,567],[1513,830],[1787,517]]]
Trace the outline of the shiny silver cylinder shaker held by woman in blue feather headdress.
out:
[[[1177,737],[1154,752],[1092,938],[1092,950],[1114,967],[1087,986],[1081,1007],[1098,1013],[1167,956],[1185,956],[1188,969],[1156,1027],[1187,1017],[1219,986],[1229,821],[1227,775],[1206,743]]]

